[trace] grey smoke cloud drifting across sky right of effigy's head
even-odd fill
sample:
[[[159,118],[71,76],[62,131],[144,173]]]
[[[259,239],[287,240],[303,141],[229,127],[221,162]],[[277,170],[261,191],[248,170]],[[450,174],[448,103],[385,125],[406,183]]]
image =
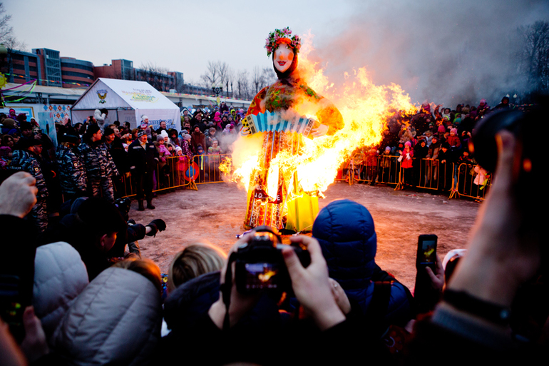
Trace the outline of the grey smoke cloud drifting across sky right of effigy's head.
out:
[[[309,56],[327,65],[329,79],[343,82],[346,71],[365,66],[374,83],[397,83],[414,103],[452,107],[481,98],[494,106],[528,91],[517,71],[517,29],[549,19],[546,0],[359,1],[356,8]]]

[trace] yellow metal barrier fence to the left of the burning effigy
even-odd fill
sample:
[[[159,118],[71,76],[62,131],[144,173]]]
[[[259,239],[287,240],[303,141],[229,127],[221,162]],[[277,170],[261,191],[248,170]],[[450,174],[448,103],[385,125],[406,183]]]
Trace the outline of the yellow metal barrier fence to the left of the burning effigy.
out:
[[[165,162],[156,165],[154,172],[153,192],[173,190],[175,188],[197,189],[197,184],[220,183],[220,163],[230,158],[228,154],[197,155],[193,161],[187,156],[169,156]],[[135,184],[131,177],[122,177],[120,184],[115,184],[116,190],[123,190],[122,197],[135,195]]]

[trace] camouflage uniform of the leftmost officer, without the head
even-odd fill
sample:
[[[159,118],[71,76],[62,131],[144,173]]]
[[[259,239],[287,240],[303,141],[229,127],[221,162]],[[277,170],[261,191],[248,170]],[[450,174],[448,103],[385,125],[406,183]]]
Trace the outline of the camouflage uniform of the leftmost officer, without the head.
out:
[[[48,189],[42,175],[42,168],[34,153],[24,150],[16,150],[11,158],[9,168],[13,171],[25,171],[36,179],[36,205],[29,213],[30,220],[43,232],[48,227],[48,211],[46,210],[46,198]]]

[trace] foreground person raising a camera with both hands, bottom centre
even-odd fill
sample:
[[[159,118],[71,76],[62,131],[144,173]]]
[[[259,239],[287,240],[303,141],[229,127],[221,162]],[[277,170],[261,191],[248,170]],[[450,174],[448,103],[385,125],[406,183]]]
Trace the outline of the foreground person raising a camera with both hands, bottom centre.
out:
[[[255,233],[250,233],[238,240],[229,255],[236,253],[241,245],[250,243],[254,236]],[[185,344],[193,350],[193,354],[185,359],[185,362],[191,365],[224,365],[227,362],[239,361],[261,365],[298,365],[303,362],[326,363],[331,358],[334,362],[342,362],[346,357],[352,360],[352,352],[363,352],[364,346],[351,347],[352,350],[345,355],[316,351],[347,348],[352,346],[353,341],[358,342],[359,337],[356,337],[357,333],[352,332],[349,323],[345,321],[342,308],[347,309],[349,302],[339,285],[329,279],[326,261],[317,240],[303,235],[291,240],[294,244],[306,247],[310,254],[310,264],[304,268],[293,248],[287,245],[287,248],[282,249],[284,263],[292,280],[294,296],[302,307],[299,321],[297,315],[293,319],[285,320],[267,316],[266,313],[270,312],[271,308],[261,305],[261,302],[265,300],[265,295],[269,295],[269,290],[251,294],[237,290],[237,264],[230,260],[230,288],[224,288],[228,270],[225,265],[220,276],[222,285],[219,299],[193,326],[180,329],[178,332],[174,330],[164,339],[166,344],[163,349],[174,350],[171,354],[168,352],[168,359],[180,360],[180,353],[175,351],[178,350],[176,345],[180,344]],[[193,281],[196,283],[201,277]],[[180,288],[177,291],[180,291]],[[276,291],[272,294],[275,293]],[[202,302],[204,300],[202,299]],[[275,304],[278,301],[275,298],[272,300]],[[307,319],[303,320],[303,317]],[[292,346],[288,345],[283,349],[282,340],[286,340]],[[211,352],[212,345],[215,352]]]

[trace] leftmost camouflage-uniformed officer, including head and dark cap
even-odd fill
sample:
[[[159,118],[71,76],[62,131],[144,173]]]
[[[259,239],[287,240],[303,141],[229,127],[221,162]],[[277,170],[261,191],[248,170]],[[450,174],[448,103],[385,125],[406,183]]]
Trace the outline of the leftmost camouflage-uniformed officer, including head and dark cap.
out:
[[[10,169],[13,171],[25,171],[31,173],[36,179],[36,205],[29,213],[30,220],[36,225],[40,232],[44,232],[48,227],[48,211],[46,210],[46,199],[48,198],[48,189],[46,181],[43,178],[40,165],[40,154],[42,152],[42,142],[36,138],[22,140],[16,146],[13,153]]]

